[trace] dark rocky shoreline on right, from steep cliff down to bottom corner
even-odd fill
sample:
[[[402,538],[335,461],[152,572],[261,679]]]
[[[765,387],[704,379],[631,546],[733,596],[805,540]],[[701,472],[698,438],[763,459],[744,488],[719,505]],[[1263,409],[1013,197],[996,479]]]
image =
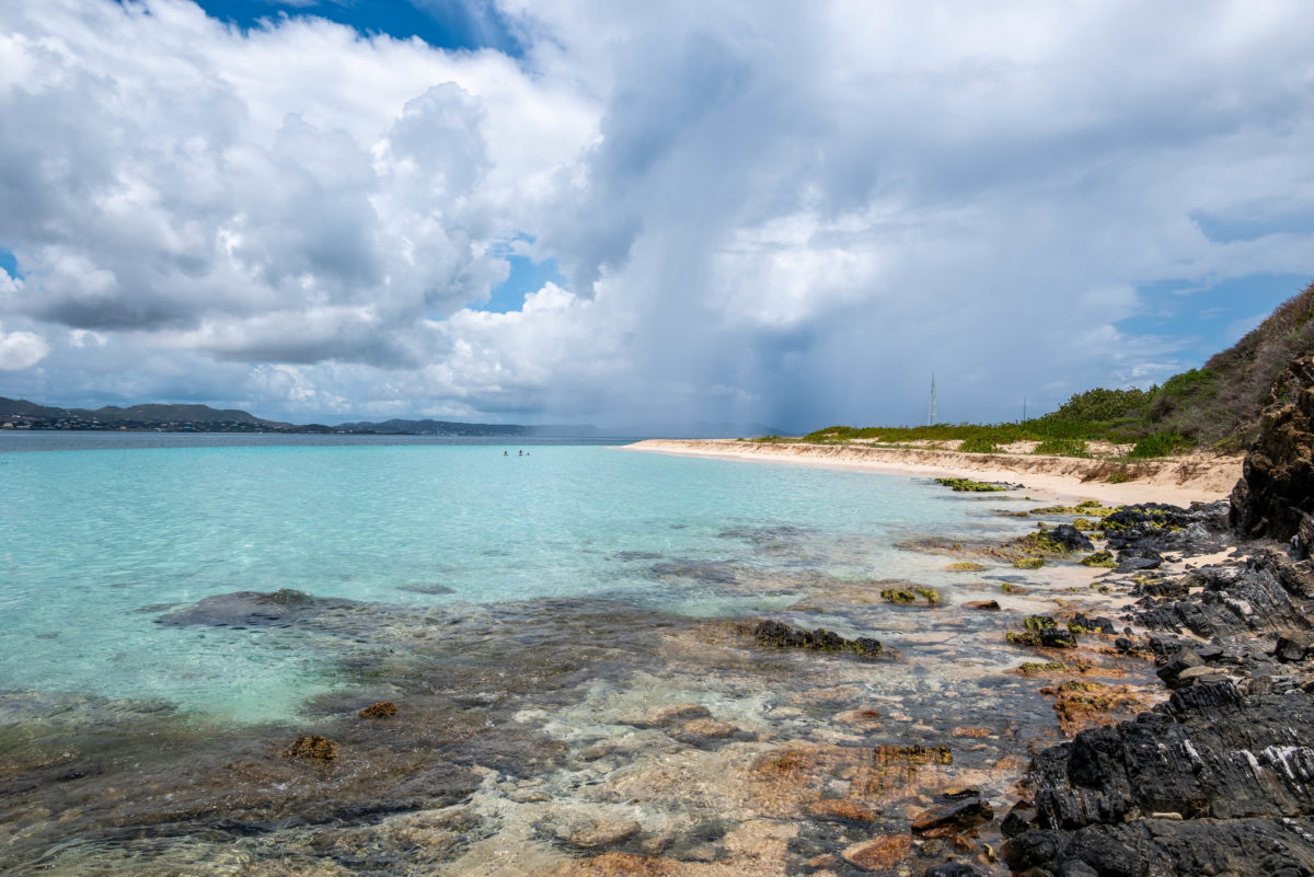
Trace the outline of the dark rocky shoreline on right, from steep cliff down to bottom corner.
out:
[[[1209,516],[1159,536],[1189,515],[1159,509],[1121,537],[1120,559],[1205,554],[1227,530],[1247,541],[1222,563],[1135,578],[1126,618],[1155,633],[1123,642],[1155,655],[1173,693],[1034,759],[1001,826],[1014,872],[1314,873],[1314,372],[1294,365],[1305,389],[1271,400],[1226,520],[1197,509]]]

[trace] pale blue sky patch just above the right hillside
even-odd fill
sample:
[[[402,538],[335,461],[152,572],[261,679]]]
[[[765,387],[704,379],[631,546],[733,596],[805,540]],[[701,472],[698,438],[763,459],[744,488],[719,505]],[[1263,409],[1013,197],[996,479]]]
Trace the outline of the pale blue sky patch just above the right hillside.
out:
[[[1118,323],[1134,335],[1181,340],[1184,368],[1204,365],[1214,353],[1235,344],[1275,307],[1305,289],[1303,274],[1250,274],[1212,286],[1162,281],[1139,289],[1143,312]]]

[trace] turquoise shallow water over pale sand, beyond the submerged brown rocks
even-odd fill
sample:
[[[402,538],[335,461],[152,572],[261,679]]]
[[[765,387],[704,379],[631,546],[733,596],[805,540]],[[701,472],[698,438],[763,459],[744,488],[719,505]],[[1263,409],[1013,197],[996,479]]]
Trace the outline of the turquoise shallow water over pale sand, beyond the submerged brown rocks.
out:
[[[339,684],[340,638],[160,618],[280,588],[417,610],[591,596],[736,616],[824,576],[943,584],[941,558],[894,544],[1020,529],[980,515],[1003,500],[904,477],[597,445],[188,438],[0,444],[0,691],[286,718]]]

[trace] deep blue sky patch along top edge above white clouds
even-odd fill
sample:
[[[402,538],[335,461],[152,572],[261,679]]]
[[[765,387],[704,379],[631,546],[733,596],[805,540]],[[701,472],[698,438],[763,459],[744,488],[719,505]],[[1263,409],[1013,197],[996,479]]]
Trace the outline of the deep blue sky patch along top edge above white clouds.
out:
[[[239,28],[315,17],[355,28],[361,34],[397,39],[419,37],[439,49],[497,49],[520,56],[524,47],[506,18],[486,0],[196,0],[205,14]]]

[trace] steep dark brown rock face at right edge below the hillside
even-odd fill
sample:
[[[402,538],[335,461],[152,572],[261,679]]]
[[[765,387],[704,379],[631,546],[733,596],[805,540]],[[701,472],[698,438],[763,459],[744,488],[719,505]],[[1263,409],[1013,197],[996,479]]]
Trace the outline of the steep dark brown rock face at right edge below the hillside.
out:
[[[1231,495],[1231,523],[1251,538],[1314,547],[1314,357],[1279,375],[1260,416],[1259,437]]]

